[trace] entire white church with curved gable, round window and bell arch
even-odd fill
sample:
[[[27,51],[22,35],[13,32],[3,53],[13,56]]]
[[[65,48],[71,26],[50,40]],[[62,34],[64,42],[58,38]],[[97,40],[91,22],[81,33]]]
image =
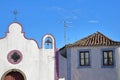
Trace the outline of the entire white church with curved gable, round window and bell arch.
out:
[[[22,25],[13,22],[0,39],[1,80],[55,80],[55,39],[46,34],[42,48],[25,37]]]

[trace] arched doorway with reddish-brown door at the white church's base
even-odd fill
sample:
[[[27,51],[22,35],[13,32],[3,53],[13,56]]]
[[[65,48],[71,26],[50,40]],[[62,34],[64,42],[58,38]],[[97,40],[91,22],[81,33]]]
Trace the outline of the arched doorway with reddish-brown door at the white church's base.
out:
[[[12,69],[5,72],[1,80],[26,80],[26,77],[22,71],[18,69]]]

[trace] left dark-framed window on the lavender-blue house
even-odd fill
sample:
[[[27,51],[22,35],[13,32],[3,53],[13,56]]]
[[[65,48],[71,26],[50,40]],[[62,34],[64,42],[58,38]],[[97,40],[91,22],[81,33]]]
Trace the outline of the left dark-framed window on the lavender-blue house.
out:
[[[80,52],[80,66],[89,66],[90,65],[90,54],[89,51]]]

